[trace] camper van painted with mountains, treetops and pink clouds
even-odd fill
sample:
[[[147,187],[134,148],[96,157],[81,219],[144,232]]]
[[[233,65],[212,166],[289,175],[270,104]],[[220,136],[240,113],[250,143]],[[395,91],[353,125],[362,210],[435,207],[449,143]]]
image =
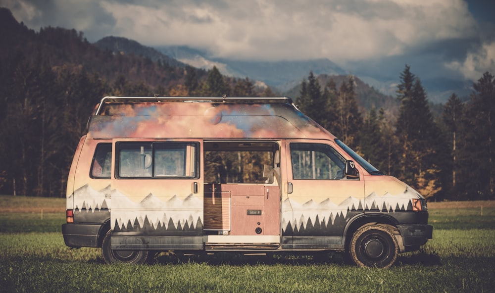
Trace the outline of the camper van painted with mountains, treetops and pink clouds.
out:
[[[432,239],[426,200],[290,98],[105,97],[67,181],[69,247],[106,263],[160,251],[341,251],[389,267]]]

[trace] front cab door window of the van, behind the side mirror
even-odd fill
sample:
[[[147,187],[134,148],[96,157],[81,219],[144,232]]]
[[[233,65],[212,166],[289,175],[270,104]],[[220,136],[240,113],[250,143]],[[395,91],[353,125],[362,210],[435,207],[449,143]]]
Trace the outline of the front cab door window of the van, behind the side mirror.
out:
[[[344,178],[346,159],[324,144],[291,144],[294,179],[339,180]]]

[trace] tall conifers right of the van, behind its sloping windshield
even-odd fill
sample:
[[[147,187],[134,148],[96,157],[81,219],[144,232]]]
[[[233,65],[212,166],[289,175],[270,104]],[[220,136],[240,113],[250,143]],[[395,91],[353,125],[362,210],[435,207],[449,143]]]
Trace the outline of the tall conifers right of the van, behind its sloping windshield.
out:
[[[372,107],[361,113],[354,80],[321,86],[310,72],[296,101],[302,112],[354,148],[382,172],[430,200],[495,199],[495,78],[486,72],[470,99],[452,94],[434,117],[427,93],[408,65],[400,74],[395,118]]]

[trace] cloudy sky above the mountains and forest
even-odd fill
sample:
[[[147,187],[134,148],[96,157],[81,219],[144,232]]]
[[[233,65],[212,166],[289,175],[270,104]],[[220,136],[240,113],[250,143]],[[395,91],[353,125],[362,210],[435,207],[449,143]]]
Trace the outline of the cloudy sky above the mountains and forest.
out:
[[[119,36],[247,60],[325,57],[351,70],[395,60],[401,68],[417,64],[413,72],[434,67],[435,74],[473,81],[495,74],[495,0],[0,0],[0,6],[29,28],[75,28],[90,42]]]

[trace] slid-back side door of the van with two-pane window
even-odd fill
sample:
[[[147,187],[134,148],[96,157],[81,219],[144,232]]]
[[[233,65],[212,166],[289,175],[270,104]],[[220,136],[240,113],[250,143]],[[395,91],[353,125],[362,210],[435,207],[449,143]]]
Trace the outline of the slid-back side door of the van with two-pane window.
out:
[[[165,142],[157,139],[113,140],[114,172],[112,172],[111,179],[112,209],[110,220],[110,228],[114,232],[112,248],[156,248],[160,244],[163,244],[164,247],[176,245],[174,248],[187,249],[197,246],[198,239],[202,239],[203,230],[202,177],[200,174],[195,174],[190,176],[191,178],[178,178],[177,174],[167,174],[166,168],[170,167],[176,171],[177,166],[174,164],[166,166],[165,164],[170,161],[167,161],[167,158],[161,159],[161,157],[170,156],[172,152],[180,152],[180,155],[183,156],[181,157],[182,162],[187,161],[185,165],[178,166],[181,172],[194,173],[199,169],[194,167],[195,170],[190,170],[190,166],[191,164],[197,166],[202,161],[201,143],[202,141],[198,139],[174,139]],[[122,148],[129,144],[136,145],[137,151]],[[144,150],[141,147],[140,151],[141,145],[156,147],[150,150]],[[122,147],[119,148],[119,146]],[[180,147],[180,149],[177,150],[174,147]],[[191,151],[191,148],[194,148],[194,151]],[[119,154],[120,168],[115,163],[119,162],[117,159]],[[146,160],[147,155],[153,156],[152,166],[145,166],[144,161],[141,166],[139,163],[134,166],[135,162],[140,162],[141,159]],[[128,161],[130,163],[126,163]],[[131,175],[119,174],[119,170],[131,172]],[[132,172],[142,170],[149,172],[149,175],[145,173],[132,174]],[[197,186],[196,190],[195,186]],[[127,239],[126,235],[132,237]],[[145,238],[140,238],[140,236]],[[146,236],[197,237],[160,240],[155,237],[146,238]],[[143,239],[147,239],[147,241],[143,241]],[[191,243],[188,243],[189,240]]]

